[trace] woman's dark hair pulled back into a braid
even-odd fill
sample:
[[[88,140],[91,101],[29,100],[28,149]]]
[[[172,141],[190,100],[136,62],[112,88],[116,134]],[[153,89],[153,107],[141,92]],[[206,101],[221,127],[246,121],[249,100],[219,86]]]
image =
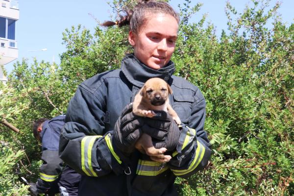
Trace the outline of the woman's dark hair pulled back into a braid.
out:
[[[140,27],[147,20],[147,14],[168,14],[173,16],[177,23],[179,23],[179,15],[174,11],[172,6],[164,1],[157,0],[139,0],[138,4],[133,9],[127,9],[124,11],[125,16],[120,15],[120,20],[116,22],[106,21],[100,25],[102,26],[113,26],[118,25],[129,25],[130,31],[138,33]]]

